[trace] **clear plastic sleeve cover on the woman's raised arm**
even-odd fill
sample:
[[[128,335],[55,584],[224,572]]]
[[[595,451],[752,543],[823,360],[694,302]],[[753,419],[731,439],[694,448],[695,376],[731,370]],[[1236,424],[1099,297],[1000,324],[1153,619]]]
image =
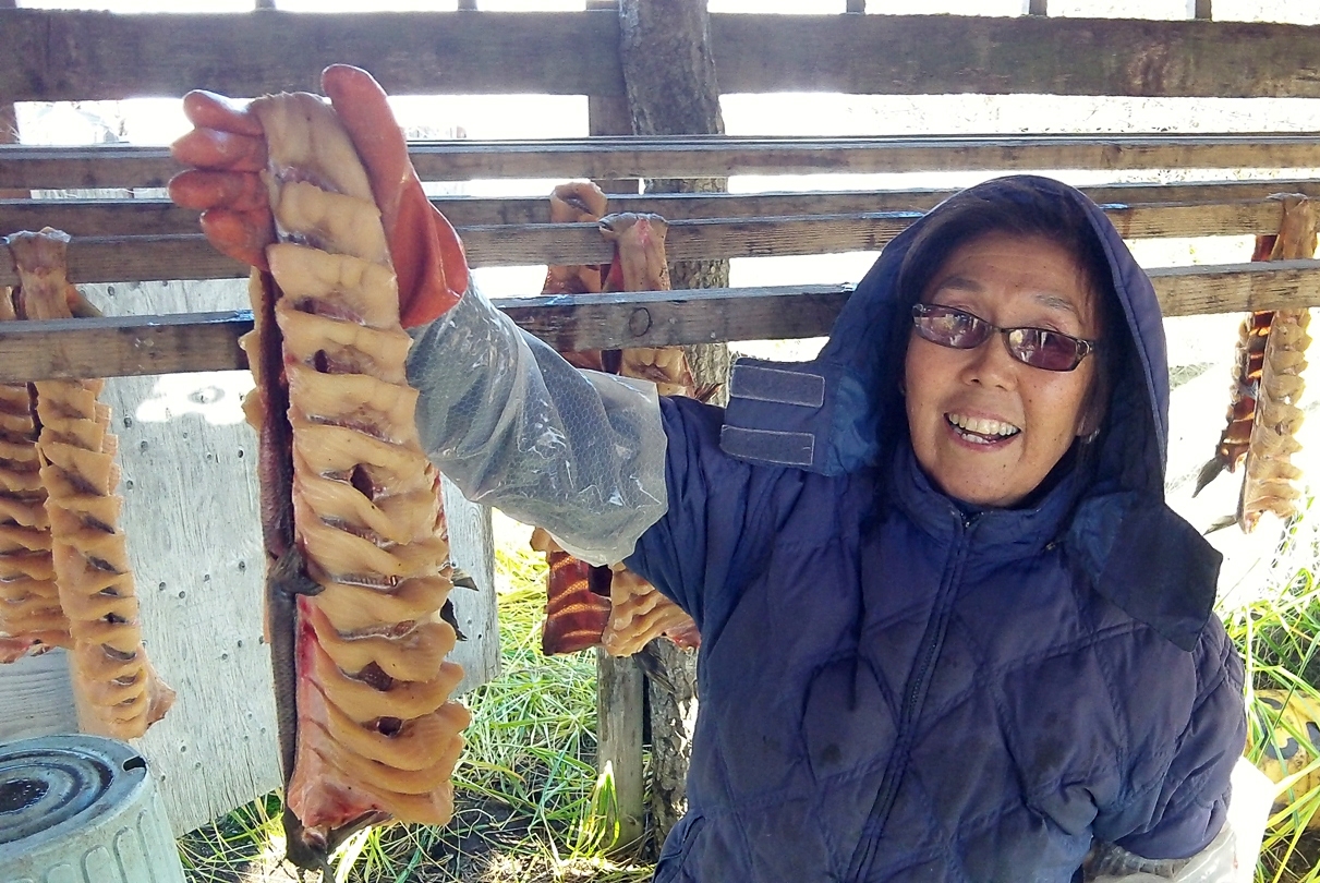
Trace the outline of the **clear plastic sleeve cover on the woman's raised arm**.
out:
[[[412,335],[422,446],[467,499],[590,564],[623,560],[664,515],[652,384],[578,371],[475,290]]]

